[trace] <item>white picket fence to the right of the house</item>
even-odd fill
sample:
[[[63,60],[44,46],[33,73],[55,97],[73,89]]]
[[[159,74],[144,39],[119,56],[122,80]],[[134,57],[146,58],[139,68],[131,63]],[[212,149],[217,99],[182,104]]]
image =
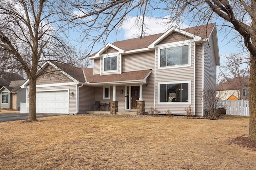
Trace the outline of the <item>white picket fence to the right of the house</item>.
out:
[[[247,100],[218,100],[218,108],[226,108],[226,115],[250,116]]]

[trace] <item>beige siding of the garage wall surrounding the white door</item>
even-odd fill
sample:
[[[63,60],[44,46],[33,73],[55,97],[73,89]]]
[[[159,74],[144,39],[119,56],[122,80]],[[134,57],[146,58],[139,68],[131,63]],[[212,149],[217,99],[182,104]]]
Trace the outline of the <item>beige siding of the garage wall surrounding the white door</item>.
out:
[[[69,109],[68,113],[72,114],[76,112],[76,85],[68,85],[68,86],[51,86],[51,87],[40,87],[36,88],[36,91],[40,90],[54,92],[55,90],[69,90]],[[74,92],[74,96],[71,96],[71,92]],[[29,94],[29,88],[27,88],[27,95]],[[27,111],[29,110],[29,98],[27,97]]]

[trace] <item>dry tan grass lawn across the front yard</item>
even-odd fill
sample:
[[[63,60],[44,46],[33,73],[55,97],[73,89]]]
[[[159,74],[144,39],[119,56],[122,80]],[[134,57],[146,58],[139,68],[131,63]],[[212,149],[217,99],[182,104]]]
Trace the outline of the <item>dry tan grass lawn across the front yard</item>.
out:
[[[0,169],[254,169],[248,117],[56,116],[0,123]]]

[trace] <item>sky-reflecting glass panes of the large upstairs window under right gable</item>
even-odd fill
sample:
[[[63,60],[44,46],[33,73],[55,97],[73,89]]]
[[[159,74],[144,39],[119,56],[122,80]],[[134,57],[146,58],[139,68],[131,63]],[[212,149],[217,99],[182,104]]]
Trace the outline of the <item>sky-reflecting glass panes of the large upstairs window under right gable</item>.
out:
[[[160,67],[188,64],[188,45],[160,49]]]

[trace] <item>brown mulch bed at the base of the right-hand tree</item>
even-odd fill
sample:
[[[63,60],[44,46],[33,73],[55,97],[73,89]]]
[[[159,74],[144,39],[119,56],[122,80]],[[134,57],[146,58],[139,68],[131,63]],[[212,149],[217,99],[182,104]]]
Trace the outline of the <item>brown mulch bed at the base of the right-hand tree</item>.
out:
[[[256,151],[256,141],[250,141],[248,137],[230,138],[229,142],[230,145],[235,144]]]

